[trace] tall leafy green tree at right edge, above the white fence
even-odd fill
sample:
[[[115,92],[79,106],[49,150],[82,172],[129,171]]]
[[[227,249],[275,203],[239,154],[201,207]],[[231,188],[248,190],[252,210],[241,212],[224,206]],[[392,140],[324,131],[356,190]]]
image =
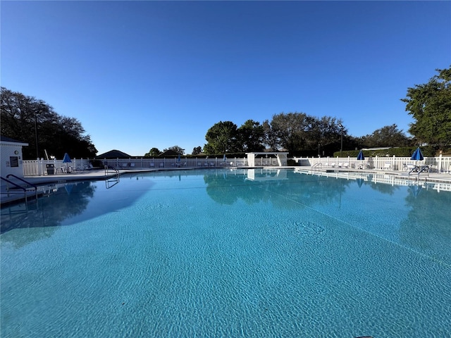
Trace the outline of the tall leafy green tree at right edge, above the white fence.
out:
[[[426,84],[415,84],[407,89],[406,111],[416,122],[410,124],[409,133],[420,143],[443,149],[451,144],[451,67],[437,69]]]

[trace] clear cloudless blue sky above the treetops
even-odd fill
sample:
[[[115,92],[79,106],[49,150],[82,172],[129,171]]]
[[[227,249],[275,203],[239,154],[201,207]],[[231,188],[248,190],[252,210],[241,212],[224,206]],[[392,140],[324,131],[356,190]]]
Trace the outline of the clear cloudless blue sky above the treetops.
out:
[[[450,64],[450,1],[1,1],[1,85],[99,154],[191,154],[221,120],[295,111],[407,132],[400,99]]]

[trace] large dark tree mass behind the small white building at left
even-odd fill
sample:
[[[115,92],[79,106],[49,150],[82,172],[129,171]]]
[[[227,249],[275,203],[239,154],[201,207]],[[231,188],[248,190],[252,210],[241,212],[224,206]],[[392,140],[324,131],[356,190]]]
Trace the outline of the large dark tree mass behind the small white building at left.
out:
[[[94,157],[97,149],[81,123],[58,115],[42,100],[1,87],[1,134],[26,142],[24,159],[49,156]]]

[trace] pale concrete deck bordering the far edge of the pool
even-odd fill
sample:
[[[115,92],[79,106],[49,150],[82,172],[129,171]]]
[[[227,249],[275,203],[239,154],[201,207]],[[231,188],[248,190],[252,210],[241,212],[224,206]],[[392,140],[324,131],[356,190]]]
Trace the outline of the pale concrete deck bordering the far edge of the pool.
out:
[[[221,167],[223,168],[223,167]],[[226,167],[228,168],[228,167]],[[233,167],[230,167],[233,168]],[[236,167],[234,167],[236,168]],[[242,169],[249,169],[249,167],[238,167]],[[311,172],[312,168],[309,166],[295,166],[295,167],[252,167],[252,168],[265,168],[265,169],[297,169],[297,170],[305,170],[307,172]],[[183,168],[183,170],[190,169],[202,169],[202,168]],[[204,168],[211,169],[211,168]],[[128,170],[118,170],[119,175],[124,173],[142,173],[142,172],[152,172],[159,170],[180,170],[180,168],[152,168],[152,169],[128,169]],[[409,173],[403,171],[392,171],[392,170],[375,170],[375,169],[354,169],[354,168],[322,168],[316,169],[317,172],[320,173],[367,173],[367,174],[384,174],[384,175],[394,175],[398,178],[403,178],[406,180],[414,180],[418,182],[443,182],[451,184],[451,175],[447,173],[428,173],[428,175],[410,175]],[[35,185],[45,185],[45,184],[61,184],[66,182],[75,182],[75,181],[85,181],[85,180],[109,180],[111,178],[116,177],[118,175],[113,170],[109,170],[108,173],[105,172],[104,169],[99,170],[85,170],[79,171],[75,173],[67,173],[67,174],[57,174],[57,175],[41,175],[41,176],[26,176],[24,180],[30,182]],[[22,185],[23,182],[15,180],[11,178],[12,182],[15,182],[19,185]],[[42,195],[42,192],[28,191],[27,199],[34,199],[36,196]],[[1,182],[1,198],[0,203],[1,206],[6,206],[10,204],[15,204],[19,201],[25,200],[25,194],[22,190],[14,190],[13,192],[7,191],[6,182]]]

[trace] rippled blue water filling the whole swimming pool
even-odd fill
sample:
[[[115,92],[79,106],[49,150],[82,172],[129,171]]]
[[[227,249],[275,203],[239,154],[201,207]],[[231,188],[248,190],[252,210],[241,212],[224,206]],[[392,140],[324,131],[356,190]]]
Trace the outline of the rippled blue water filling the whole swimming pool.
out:
[[[137,173],[2,209],[1,337],[450,337],[451,192]]]

